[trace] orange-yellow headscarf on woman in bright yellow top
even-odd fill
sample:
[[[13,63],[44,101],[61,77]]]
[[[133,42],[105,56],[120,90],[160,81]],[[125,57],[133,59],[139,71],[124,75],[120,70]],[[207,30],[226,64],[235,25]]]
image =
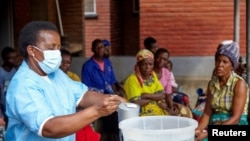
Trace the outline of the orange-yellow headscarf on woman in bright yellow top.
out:
[[[141,76],[141,73],[140,73],[140,70],[139,70],[139,67],[138,67],[138,63],[144,59],[152,59],[154,60],[154,54],[147,50],[147,49],[141,49],[137,54],[136,54],[136,65],[135,65],[135,74],[139,80],[139,83],[141,85],[141,87],[143,86],[143,79],[142,79],[142,76]]]

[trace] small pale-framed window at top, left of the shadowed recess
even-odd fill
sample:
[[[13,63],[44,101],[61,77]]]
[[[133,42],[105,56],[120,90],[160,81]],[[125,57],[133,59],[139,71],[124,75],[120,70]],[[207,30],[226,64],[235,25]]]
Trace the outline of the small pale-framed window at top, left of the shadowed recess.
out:
[[[84,11],[86,18],[96,18],[96,0],[84,0]]]

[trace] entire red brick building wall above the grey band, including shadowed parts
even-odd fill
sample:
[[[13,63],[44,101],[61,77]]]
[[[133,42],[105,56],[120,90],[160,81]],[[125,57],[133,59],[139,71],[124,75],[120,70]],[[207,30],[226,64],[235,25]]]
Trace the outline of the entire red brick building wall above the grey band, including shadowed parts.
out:
[[[92,55],[91,42],[96,38],[111,40],[113,55],[130,56],[143,48],[147,36],[155,37],[171,56],[211,56],[219,42],[233,39],[234,35],[232,0],[143,0],[139,1],[139,14],[133,13],[133,0],[96,0],[96,19],[84,19],[83,0],[59,2],[64,34],[78,45],[77,50],[83,49],[82,55],[86,57]],[[21,28],[32,20],[32,13],[39,12],[35,11],[38,8],[31,8],[32,4],[36,3],[29,0],[13,3],[15,46]],[[55,5],[55,1],[47,0],[47,8],[43,8],[47,15],[40,13],[45,16],[40,18],[47,18],[59,27]],[[240,1],[240,6],[240,52],[245,55],[246,1]]]

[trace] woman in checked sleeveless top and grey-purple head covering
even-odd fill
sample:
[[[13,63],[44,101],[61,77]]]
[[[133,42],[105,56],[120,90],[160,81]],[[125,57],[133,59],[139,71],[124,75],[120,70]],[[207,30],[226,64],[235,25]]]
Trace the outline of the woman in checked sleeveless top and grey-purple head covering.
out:
[[[248,85],[234,70],[239,45],[223,41],[215,53],[215,68],[208,83],[205,111],[196,129],[196,140],[207,140],[204,130],[210,125],[248,125]]]

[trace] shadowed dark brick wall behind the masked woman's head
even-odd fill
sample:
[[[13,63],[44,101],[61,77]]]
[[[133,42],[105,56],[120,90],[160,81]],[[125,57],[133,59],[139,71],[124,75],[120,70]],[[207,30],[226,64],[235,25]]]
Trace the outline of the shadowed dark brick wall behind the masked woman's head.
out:
[[[63,47],[71,53],[84,52],[84,0],[59,0],[60,13],[56,1],[15,0],[13,2],[14,42],[17,47],[18,36],[25,24],[33,20],[55,23],[62,36]],[[59,21],[61,17],[61,25]]]

